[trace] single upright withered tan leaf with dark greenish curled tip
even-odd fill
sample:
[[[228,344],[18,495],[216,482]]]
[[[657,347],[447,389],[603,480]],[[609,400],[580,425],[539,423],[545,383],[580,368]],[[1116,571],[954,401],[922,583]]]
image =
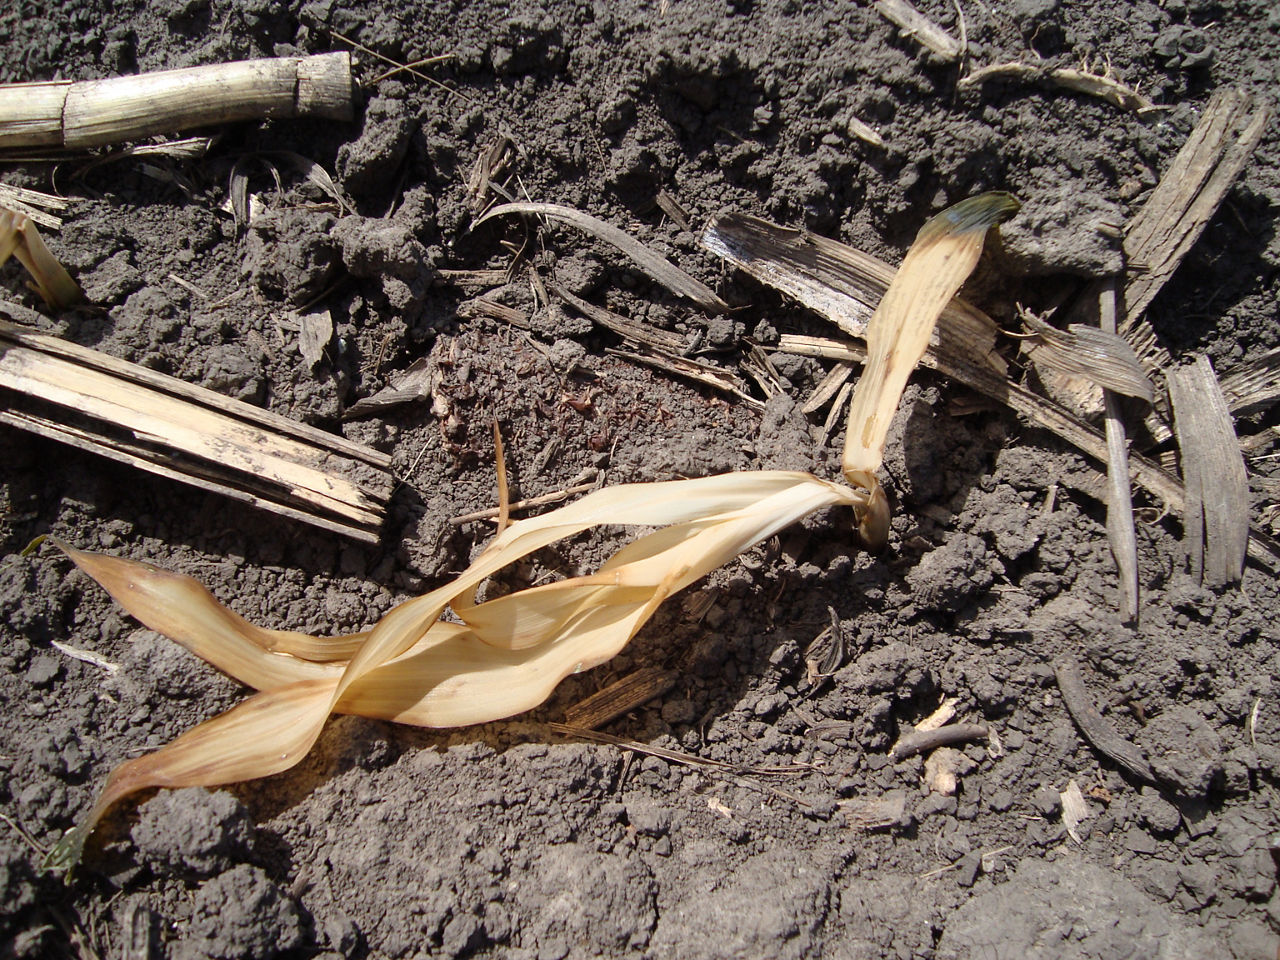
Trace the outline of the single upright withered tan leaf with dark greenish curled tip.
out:
[[[841,466],[849,483],[869,493],[870,509],[859,530],[872,549],[888,538],[888,500],[876,471],[906,379],[924,356],[942,310],[978,265],[987,230],[1016,211],[1010,195],[983,193],[929,220],[867,324],[867,369],[849,406]]]

